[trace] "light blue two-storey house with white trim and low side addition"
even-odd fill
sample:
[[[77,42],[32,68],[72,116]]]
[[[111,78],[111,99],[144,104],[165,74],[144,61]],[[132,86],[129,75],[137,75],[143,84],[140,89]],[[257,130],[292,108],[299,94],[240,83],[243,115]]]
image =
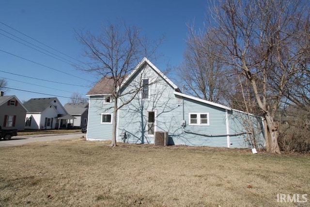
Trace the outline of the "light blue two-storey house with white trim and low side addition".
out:
[[[91,89],[87,140],[111,140],[113,80],[103,78]],[[181,93],[154,64],[144,58],[119,87],[117,139],[154,143],[168,132],[169,144],[216,147],[264,145],[262,117]],[[167,133],[166,133],[167,134]],[[158,135],[159,136],[159,135]]]

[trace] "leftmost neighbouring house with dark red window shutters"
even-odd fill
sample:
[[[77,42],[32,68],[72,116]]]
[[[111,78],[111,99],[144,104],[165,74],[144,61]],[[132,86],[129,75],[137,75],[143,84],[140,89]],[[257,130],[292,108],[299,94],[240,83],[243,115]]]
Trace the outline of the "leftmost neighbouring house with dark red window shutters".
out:
[[[0,126],[2,129],[25,129],[27,109],[16,96],[0,96]]]

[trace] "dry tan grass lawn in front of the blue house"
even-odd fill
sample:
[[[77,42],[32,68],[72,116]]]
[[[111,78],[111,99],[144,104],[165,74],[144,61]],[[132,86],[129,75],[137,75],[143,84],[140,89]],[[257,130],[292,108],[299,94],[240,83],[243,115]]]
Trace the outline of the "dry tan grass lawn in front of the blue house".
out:
[[[310,203],[309,155],[82,139],[0,150],[0,206],[270,207]],[[277,194],[308,203],[277,203]]]

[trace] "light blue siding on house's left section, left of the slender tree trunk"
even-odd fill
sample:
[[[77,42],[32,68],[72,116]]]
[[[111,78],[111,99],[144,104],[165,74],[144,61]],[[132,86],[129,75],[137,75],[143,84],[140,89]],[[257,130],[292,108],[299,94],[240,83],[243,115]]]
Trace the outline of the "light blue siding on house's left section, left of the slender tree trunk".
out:
[[[111,113],[113,104],[113,102],[104,104],[103,96],[90,97],[87,139],[111,140],[112,124],[101,124],[101,113]]]

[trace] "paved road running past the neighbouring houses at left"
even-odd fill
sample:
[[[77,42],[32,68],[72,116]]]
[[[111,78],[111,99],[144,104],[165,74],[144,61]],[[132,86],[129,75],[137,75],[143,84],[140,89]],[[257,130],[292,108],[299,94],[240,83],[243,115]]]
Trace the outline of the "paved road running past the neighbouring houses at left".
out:
[[[81,132],[70,133],[70,134],[47,134],[47,135],[30,135],[30,136],[16,136],[12,137],[11,140],[0,140],[0,147],[4,146],[17,146],[26,143],[35,143],[35,142],[48,142],[54,140],[72,140],[77,139],[85,134]]]

